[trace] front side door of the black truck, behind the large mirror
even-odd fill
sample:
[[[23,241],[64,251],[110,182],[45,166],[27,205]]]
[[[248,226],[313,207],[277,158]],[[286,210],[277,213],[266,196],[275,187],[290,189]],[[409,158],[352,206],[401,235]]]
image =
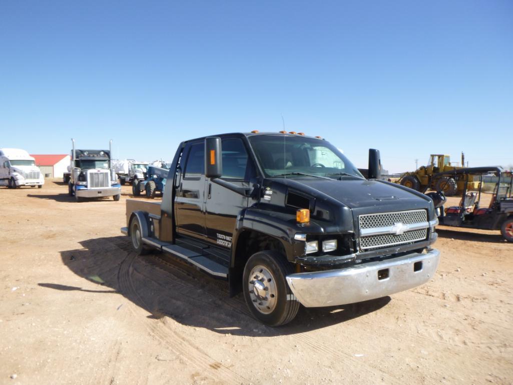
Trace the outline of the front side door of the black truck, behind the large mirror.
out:
[[[222,139],[222,162],[224,179],[238,186],[249,187],[254,174],[254,165],[248,158],[244,142],[240,138]],[[207,178],[206,234],[207,239],[216,245],[230,248],[235,229],[235,221],[242,209],[248,206],[248,198],[234,191],[212,183]]]

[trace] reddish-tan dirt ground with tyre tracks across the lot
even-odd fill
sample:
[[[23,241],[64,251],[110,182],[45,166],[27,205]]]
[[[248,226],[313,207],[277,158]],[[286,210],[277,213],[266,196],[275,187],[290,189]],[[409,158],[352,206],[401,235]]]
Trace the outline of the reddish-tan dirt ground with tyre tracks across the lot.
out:
[[[136,257],[120,202],[0,188],[0,384],[512,384],[513,244],[439,227],[427,284],[272,329],[227,284]]]

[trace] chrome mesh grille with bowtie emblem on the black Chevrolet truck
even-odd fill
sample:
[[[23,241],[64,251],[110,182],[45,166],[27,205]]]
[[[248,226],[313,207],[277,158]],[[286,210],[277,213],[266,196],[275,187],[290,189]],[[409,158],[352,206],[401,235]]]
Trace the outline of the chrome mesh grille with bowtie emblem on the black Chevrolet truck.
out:
[[[359,224],[361,251],[425,240],[429,227],[426,210],[361,215]]]

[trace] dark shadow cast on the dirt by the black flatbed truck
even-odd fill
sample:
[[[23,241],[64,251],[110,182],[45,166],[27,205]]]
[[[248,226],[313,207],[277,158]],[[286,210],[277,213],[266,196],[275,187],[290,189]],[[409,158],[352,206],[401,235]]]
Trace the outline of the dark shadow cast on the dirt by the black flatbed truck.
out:
[[[264,337],[303,333],[358,318],[390,301],[390,297],[384,297],[335,307],[301,306],[291,323],[269,328],[251,316],[242,294],[229,297],[226,281],[211,278],[185,262],[164,254],[136,256],[127,237],[90,239],[81,245],[83,248],[61,252],[63,263],[78,276],[109,290],[85,290],[58,283],[39,285],[64,291],[117,292],[147,311],[149,319],[165,321],[169,317],[220,334]]]

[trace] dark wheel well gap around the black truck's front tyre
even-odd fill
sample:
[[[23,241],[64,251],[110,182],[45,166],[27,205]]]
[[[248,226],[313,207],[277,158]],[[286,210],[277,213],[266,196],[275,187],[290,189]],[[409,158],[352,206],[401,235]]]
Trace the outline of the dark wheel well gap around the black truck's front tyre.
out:
[[[278,238],[254,230],[244,230],[237,239],[233,266],[229,271],[230,296],[242,292],[242,275],[247,260],[253,254],[273,250],[286,257],[285,247]]]

